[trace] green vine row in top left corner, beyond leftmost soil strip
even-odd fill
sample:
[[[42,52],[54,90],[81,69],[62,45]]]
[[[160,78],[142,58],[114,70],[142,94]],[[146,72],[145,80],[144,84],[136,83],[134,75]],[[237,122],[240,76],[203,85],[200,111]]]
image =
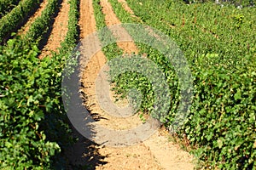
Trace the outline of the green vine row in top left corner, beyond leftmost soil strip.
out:
[[[26,16],[35,8],[38,8],[39,0],[20,1],[9,14],[6,14],[0,20],[0,44],[9,38],[12,31],[16,31]]]

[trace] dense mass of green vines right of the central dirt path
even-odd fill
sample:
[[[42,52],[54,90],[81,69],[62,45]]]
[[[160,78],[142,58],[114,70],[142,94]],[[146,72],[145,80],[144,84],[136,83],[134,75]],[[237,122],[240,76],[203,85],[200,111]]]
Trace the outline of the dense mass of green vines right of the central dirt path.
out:
[[[212,3],[127,0],[138,18],[132,18],[116,0],[110,0],[122,22],[153,26],[177,42],[194,77],[190,114],[177,132],[185,135],[204,167],[253,169],[255,167],[255,8],[237,9]],[[172,94],[166,127],[172,125],[179,102],[177,76],[165,56],[137,43],[166,75]],[[147,82],[134,82],[131,74],[119,78],[119,90]],[[143,81],[143,82],[141,82]],[[143,95],[154,95],[147,83]],[[152,96],[146,105],[152,107]],[[150,105],[151,104],[151,105]],[[150,109],[148,109],[150,110]]]

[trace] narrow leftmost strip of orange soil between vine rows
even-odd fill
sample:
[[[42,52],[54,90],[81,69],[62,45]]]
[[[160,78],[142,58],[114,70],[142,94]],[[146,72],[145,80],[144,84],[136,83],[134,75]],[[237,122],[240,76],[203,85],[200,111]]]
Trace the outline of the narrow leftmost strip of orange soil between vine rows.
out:
[[[48,1],[44,0],[41,4],[38,10],[30,17],[26,24],[20,28],[18,31],[18,34],[26,34],[26,31],[28,31],[29,27],[32,25],[32,22],[36,20],[39,16],[41,16],[42,12],[44,11],[44,8],[46,7]]]

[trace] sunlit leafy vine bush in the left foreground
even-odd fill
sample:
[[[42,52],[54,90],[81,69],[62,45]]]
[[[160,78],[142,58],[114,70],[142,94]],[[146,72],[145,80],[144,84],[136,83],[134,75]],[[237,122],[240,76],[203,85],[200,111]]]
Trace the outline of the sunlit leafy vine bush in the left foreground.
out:
[[[58,71],[37,55],[36,46],[16,39],[9,40],[0,56],[1,167],[49,167],[50,156],[60,151],[40,130],[44,114],[59,105],[61,96],[53,86]]]

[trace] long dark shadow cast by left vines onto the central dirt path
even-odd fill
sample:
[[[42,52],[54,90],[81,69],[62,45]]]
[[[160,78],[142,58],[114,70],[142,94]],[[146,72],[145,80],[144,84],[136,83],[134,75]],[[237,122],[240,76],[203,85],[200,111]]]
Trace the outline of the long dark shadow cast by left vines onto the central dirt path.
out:
[[[90,115],[90,111],[85,111],[83,105],[83,95],[77,93],[79,82],[79,65],[73,67],[74,72],[63,78],[63,86],[58,87],[63,93],[61,103],[66,104],[67,113],[64,105],[61,105],[61,111],[56,110],[56,113],[50,112],[44,115],[44,132],[49,141],[56,142],[61,147],[61,153],[53,157],[52,166],[50,169],[67,169],[67,170],[94,170],[96,166],[104,165],[107,162],[103,161],[105,156],[99,153],[99,144],[91,142],[84,138],[75,127],[71,120],[68,119],[68,114],[73,114],[72,117],[79,119],[76,126],[86,126],[84,132],[91,137],[95,135],[94,127],[90,123],[86,124],[83,120]],[[68,71],[67,71],[68,72]],[[64,83],[65,82],[65,83]],[[60,86],[60,84],[58,84]],[[82,95],[82,96],[81,96]],[[56,106],[57,107],[57,106]],[[80,121],[82,120],[82,121]],[[85,123],[85,124],[84,124]],[[81,128],[82,128],[81,127]]]

